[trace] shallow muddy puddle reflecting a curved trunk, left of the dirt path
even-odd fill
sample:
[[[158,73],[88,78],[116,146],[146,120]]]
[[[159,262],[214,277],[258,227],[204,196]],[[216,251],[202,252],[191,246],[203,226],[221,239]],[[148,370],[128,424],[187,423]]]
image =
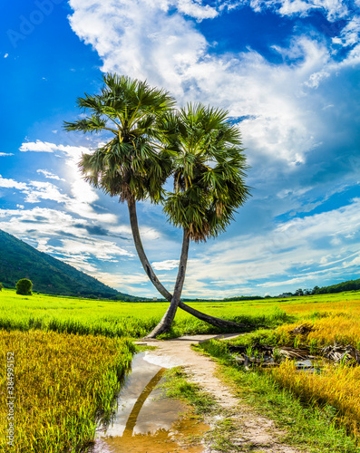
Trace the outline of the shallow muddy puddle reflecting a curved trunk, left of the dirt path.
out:
[[[204,451],[191,446],[190,437],[201,436],[209,427],[184,415],[189,407],[162,397],[161,390],[155,389],[165,370],[146,361],[145,352],[134,355],[116,413],[108,427],[97,430],[92,453]]]

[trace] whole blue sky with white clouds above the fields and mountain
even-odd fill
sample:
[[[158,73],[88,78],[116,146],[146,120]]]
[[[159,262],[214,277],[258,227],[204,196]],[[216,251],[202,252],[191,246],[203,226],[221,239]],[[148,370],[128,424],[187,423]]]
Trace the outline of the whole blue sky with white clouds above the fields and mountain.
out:
[[[126,206],[77,162],[101,136],[63,131],[102,72],[229,111],[252,189],[228,231],[190,246],[184,296],[279,294],[358,278],[360,1],[38,0],[0,5],[0,229],[129,294],[156,296]],[[181,232],[139,205],[174,283]]]

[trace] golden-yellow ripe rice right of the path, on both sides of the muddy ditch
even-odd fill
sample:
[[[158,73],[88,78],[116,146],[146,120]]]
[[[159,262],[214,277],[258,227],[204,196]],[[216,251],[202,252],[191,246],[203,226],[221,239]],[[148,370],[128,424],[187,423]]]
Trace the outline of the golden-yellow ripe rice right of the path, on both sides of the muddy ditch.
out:
[[[289,312],[302,314],[303,319],[277,328],[281,343],[311,347],[338,343],[360,349],[359,301],[292,305],[287,308]],[[310,332],[294,335],[292,331],[304,323]],[[335,419],[360,437],[360,367],[326,365],[321,372],[308,373],[297,371],[293,362],[286,361],[271,373],[281,386],[294,391],[302,400],[334,408]]]

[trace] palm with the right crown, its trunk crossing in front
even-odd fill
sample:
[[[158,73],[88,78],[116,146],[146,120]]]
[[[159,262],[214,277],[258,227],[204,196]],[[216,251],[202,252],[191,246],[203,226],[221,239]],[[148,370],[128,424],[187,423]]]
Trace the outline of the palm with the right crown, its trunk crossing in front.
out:
[[[183,242],[170,306],[149,337],[170,330],[180,304],[190,240],[206,241],[225,231],[249,196],[240,132],[230,124],[227,111],[190,104],[162,118],[162,130],[168,149],[176,150],[174,190],[164,200],[164,212],[170,223],[183,229]]]

